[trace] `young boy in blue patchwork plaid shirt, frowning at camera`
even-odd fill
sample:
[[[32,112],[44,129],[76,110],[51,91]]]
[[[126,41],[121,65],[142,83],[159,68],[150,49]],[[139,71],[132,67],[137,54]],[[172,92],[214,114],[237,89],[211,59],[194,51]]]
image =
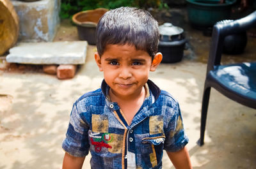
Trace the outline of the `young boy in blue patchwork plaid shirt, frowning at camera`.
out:
[[[63,169],[162,168],[163,149],[176,168],[191,168],[177,101],[148,80],[162,55],[156,20],[144,10],[122,7],[97,26],[95,61],[104,73],[101,89],[72,108]]]

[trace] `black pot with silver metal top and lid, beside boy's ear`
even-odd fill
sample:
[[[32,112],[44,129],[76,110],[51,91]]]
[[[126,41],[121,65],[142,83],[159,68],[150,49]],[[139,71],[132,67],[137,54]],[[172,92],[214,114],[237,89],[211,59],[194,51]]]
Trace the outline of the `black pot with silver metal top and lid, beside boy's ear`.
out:
[[[186,39],[182,28],[164,23],[159,26],[158,51],[163,54],[162,62],[179,62],[183,57]]]

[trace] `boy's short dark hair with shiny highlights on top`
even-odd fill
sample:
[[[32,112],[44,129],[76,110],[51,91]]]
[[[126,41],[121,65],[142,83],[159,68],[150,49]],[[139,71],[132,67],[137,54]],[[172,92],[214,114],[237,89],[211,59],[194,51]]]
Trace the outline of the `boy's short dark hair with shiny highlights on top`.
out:
[[[101,56],[109,44],[134,45],[154,58],[159,31],[157,21],[148,11],[121,7],[107,11],[96,28],[97,50]]]

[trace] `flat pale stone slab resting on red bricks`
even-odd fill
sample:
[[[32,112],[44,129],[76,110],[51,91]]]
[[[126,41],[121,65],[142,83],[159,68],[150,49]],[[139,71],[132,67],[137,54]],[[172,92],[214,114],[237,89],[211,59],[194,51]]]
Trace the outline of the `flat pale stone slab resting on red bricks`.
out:
[[[17,43],[6,56],[7,62],[22,64],[84,64],[87,41]]]

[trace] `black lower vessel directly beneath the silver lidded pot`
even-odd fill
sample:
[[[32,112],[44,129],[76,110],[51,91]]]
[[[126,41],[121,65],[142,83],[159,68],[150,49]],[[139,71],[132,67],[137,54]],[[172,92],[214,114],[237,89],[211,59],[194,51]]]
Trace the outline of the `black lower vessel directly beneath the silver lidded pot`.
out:
[[[158,51],[163,54],[162,62],[180,62],[183,58],[186,39],[179,41],[159,41]]]

